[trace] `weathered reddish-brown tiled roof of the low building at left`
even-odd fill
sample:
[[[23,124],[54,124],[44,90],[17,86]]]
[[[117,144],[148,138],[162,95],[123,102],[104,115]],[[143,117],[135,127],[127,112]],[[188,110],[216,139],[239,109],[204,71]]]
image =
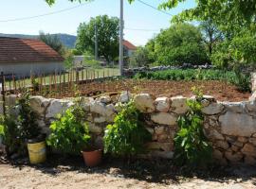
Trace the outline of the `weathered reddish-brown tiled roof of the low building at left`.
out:
[[[0,37],[0,63],[62,60],[55,50],[39,40]]]

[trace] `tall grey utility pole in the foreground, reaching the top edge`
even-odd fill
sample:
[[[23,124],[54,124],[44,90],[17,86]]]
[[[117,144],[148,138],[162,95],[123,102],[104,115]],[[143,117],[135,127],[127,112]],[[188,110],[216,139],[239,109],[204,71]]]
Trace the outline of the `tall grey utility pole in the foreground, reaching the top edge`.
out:
[[[119,17],[119,72],[123,75],[123,0],[120,0]]]

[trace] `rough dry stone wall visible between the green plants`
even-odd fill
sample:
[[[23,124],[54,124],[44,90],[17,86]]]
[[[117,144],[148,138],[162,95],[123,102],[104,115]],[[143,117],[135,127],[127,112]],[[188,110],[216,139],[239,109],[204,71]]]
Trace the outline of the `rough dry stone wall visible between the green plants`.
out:
[[[133,96],[129,92],[123,92],[118,99],[110,96],[83,98],[81,106],[86,111],[84,117],[96,145],[102,146],[104,129],[113,123],[119,112],[119,103],[126,103],[132,97],[137,109],[144,113],[146,129],[152,133],[152,141],[146,145],[149,152],[143,157],[172,159],[174,136],[178,130],[176,121],[188,111],[187,98],[184,96],[155,98],[151,94]],[[15,98],[14,95],[7,96],[7,105],[14,105]],[[32,96],[30,103],[39,115],[39,126],[46,134],[49,134],[49,125],[56,119],[56,115],[74,104],[72,99],[47,99],[42,96]],[[214,97],[205,95],[203,105],[204,131],[213,146],[216,163],[255,164],[256,98],[250,97],[243,102],[219,102]]]

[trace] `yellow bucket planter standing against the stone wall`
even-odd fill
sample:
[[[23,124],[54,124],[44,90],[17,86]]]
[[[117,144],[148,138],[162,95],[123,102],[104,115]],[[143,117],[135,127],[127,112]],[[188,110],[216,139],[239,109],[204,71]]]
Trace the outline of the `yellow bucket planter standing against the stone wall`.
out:
[[[27,144],[29,161],[32,164],[46,162],[46,142]]]

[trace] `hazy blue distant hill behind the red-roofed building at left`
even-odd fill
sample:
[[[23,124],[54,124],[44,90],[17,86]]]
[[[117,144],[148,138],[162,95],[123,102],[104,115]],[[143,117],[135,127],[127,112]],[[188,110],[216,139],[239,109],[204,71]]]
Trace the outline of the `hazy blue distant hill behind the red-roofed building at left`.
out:
[[[57,33],[58,37],[64,43],[64,45],[68,48],[74,48],[77,40],[76,36]],[[0,33],[0,37],[11,37],[11,38],[25,38],[25,39],[36,39],[38,35],[24,35],[24,34],[4,34]]]

